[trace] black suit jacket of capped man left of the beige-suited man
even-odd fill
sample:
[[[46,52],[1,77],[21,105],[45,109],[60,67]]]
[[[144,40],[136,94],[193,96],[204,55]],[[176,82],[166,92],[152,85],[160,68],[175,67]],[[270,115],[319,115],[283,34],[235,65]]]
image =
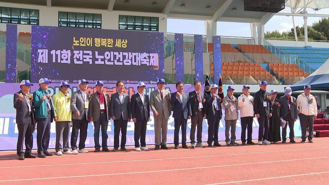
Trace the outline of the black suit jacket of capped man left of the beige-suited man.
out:
[[[131,118],[136,118],[137,121],[142,121],[150,118],[150,102],[148,96],[144,94],[144,104],[139,96],[139,93],[131,96]]]

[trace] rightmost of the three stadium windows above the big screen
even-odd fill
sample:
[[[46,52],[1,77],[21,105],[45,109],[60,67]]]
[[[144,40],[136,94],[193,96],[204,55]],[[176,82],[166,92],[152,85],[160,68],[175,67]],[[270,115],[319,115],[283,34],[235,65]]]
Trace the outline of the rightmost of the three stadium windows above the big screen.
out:
[[[159,31],[159,17],[119,15],[119,30]]]

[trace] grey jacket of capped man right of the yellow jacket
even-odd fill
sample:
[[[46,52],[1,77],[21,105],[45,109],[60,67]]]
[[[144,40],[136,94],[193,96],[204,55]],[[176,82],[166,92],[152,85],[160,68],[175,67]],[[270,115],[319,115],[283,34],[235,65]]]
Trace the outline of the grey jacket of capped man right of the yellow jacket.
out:
[[[88,101],[88,105],[89,105],[89,98],[88,98],[88,93],[87,94],[87,101]],[[80,92],[80,90],[74,92],[72,94],[72,98],[71,98],[71,107],[72,107],[72,119],[83,119],[83,116],[86,114],[86,119],[89,119],[89,113],[88,113],[88,109],[85,109],[85,101],[83,100],[82,97],[82,93]],[[80,116],[75,116],[75,113],[80,112]]]

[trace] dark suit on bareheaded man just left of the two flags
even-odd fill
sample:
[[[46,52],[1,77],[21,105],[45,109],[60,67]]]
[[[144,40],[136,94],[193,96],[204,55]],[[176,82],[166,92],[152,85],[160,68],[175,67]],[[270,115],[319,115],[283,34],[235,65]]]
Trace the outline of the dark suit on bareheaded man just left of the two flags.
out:
[[[191,132],[190,132],[190,139],[191,144],[195,143],[195,127],[197,126],[197,134],[196,139],[198,143],[202,143],[202,123],[203,123],[203,117],[206,113],[206,104],[203,102],[204,95],[203,93],[200,93],[201,96],[201,103],[202,103],[202,109],[199,109],[199,100],[198,95],[195,91],[192,91],[189,93],[189,99],[190,99],[190,112],[191,112]]]

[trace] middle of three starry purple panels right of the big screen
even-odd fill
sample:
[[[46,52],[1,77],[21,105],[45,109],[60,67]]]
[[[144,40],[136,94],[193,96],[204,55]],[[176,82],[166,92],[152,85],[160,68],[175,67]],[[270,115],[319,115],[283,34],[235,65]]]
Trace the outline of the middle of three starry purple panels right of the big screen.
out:
[[[203,43],[202,35],[194,35],[195,81],[203,84]]]

